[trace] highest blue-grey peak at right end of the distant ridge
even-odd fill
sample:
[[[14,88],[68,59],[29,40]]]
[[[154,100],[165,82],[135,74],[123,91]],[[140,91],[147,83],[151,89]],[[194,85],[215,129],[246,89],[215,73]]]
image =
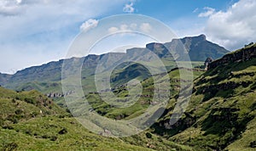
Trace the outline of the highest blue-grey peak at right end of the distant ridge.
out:
[[[218,59],[224,56],[224,54],[230,53],[225,48],[207,41],[207,36],[205,35],[173,39],[172,42],[166,43],[152,42],[148,43],[146,48],[157,54],[160,58],[186,60],[184,54],[189,54],[191,61],[205,61],[209,57]]]

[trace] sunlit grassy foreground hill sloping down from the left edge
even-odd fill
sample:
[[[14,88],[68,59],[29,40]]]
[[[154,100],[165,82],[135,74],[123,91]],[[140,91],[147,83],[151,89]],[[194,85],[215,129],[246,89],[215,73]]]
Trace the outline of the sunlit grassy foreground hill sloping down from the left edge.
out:
[[[36,91],[0,87],[0,106],[0,150],[191,150],[146,132],[124,139],[96,135]]]

